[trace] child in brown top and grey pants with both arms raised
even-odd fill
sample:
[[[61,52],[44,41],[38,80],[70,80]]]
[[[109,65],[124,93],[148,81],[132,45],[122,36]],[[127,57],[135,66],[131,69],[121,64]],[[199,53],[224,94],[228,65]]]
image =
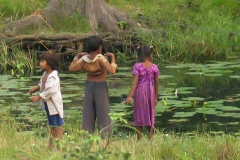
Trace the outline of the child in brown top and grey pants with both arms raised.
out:
[[[79,53],[71,63],[69,70],[85,70],[87,83],[84,94],[82,129],[93,133],[95,120],[102,136],[111,133],[111,120],[108,88],[106,83],[107,72],[116,72],[115,56],[112,53],[104,54],[111,58],[111,64],[101,54],[103,41],[99,36],[92,36],[87,41],[90,54]]]

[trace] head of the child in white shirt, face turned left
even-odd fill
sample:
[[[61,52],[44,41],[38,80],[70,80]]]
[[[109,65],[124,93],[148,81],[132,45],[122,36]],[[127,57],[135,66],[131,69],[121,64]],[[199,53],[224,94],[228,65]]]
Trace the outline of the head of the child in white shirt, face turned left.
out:
[[[59,56],[51,52],[45,52],[41,55],[40,69],[46,71],[48,68],[58,70],[60,66]]]

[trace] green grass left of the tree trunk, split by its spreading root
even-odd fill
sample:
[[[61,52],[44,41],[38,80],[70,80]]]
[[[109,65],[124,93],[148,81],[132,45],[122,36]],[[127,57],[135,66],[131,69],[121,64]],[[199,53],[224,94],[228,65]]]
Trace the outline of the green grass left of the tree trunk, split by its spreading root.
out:
[[[9,22],[12,20],[18,20],[24,18],[35,11],[44,8],[47,4],[47,0],[0,0],[0,22]],[[49,24],[40,30],[30,28],[23,34],[37,34],[41,33],[59,33],[59,32],[71,32],[71,33],[86,33],[91,28],[86,18],[79,15],[72,15],[70,17],[63,17],[60,21],[53,20],[53,26],[49,28]],[[0,31],[4,29],[3,24],[0,23]]]

